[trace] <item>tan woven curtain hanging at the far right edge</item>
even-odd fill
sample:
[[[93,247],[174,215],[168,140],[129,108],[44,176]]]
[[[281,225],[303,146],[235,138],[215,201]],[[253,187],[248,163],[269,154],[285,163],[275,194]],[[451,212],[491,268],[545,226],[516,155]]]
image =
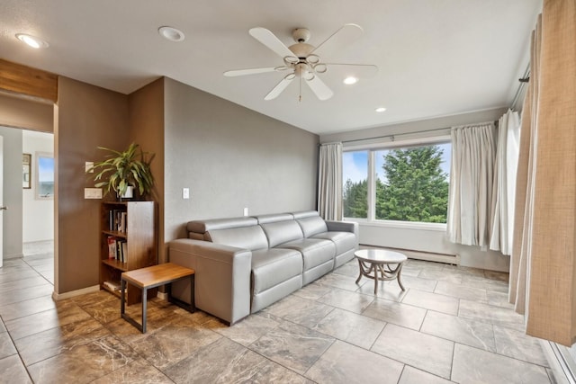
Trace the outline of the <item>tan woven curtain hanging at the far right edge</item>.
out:
[[[527,334],[576,342],[576,1],[544,0],[522,111],[509,299]]]

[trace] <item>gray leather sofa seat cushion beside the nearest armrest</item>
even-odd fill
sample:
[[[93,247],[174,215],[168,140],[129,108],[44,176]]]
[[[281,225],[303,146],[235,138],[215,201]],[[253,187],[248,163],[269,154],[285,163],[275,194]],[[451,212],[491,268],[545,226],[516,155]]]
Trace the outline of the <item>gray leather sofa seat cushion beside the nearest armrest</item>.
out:
[[[270,248],[252,252],[252,291],[262,292],[302,274],[302,255],[293,249]]]

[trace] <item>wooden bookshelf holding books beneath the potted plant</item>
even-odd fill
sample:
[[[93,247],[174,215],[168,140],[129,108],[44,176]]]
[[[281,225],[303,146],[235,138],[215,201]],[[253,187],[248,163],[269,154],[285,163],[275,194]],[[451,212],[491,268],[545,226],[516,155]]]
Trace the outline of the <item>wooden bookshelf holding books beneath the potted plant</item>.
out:
[[[156,203],[104,201],[100,217],[100,288],[120,297],[120,290],[113,290],[104,282],[112,281],[120,286],[121,272],[157,264]],[[123,252],[112,252],[109,239],[116,249],[120,246]],[[122,242],[126,243],[123,247]],[[141,291],[135,287],[129,285],[126,294],[128,305],[141,300]],[[148,292],[150,297],[156,297],[156,292]]]

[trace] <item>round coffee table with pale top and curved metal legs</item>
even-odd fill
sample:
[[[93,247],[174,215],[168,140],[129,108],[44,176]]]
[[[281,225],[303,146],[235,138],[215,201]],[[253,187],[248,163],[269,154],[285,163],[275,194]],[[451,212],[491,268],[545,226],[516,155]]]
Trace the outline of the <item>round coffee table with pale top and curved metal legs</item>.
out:
[[[375,295],[378,289],[378,281],[396,279],[400,288],[405,290],[400,279],[402,264],[408,260],[405,255],[386,249],[361,249],[356,251],[354,255],[358,259],[360,267],[360,274],[358,279],[356,279],[356,284],[362,279],[362,276],[373,279]]]

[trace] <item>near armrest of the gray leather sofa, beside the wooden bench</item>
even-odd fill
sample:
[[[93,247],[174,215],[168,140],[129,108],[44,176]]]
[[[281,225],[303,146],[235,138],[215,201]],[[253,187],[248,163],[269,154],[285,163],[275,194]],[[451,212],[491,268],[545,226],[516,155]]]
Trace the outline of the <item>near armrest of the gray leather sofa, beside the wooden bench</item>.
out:
[[[250,314],[252,252],[234,246],[180,238],[168,245],[170,262],[195,270],[195,306],[234,324]],[[190,282],[176,281],[172,293],[190,302]]]

